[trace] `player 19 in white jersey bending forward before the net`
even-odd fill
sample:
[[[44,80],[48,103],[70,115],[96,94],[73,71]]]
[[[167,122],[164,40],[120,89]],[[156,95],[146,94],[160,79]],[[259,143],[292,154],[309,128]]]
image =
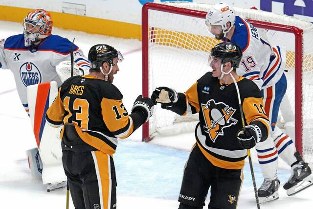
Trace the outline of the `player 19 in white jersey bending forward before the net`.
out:
[[[243,58],[237,73],[254,81],[263,95],[264,109],[271,122],[272,133],[268,140],[255,146],[264,176],[264,182],[258,189],[260,202],[278,198],[280,184],[276,176],[278,156],[292,169],[291,177],[284,185],[288,195],[311,186],[312,181],[308,186],[301,186],[311,174],[308,163],[305,163],[299,152],[296,152],[291,138],[275,127],[279,106],[287,89],[284,74],[285,48],[271,46],[263,31],[259,31],[245,19],[235,16],[234,9],[224,3],[215,4],[208,11],[205,25],[216,39],[232,42],[241,47]]]

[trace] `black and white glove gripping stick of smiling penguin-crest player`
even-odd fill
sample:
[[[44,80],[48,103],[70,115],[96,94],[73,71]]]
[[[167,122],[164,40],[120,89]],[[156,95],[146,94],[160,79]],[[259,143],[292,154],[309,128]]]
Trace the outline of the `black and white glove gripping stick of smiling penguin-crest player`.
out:
[[[261,129],[257,125],[248,125],[237,133],[239,144],[244,149],[251,149],[262,138]]]

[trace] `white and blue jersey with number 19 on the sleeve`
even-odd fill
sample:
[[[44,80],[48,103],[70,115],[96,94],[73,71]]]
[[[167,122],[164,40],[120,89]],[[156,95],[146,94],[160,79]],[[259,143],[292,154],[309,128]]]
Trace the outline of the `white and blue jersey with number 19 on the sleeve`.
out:
[[[236,16],[235,31],[230,42],[240,46],[243,51],[237,74],[253,80],[260,89],[274,85],[281,78],[286,65],[286,49],[271,46],[263,31]]]

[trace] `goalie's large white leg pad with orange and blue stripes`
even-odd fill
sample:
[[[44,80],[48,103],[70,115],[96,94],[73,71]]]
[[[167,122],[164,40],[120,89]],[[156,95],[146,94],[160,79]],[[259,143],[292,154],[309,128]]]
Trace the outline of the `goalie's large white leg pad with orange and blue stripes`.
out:
[[[27,87],[29,115],[43,164],[43,184],[58,184],[67,179],[62,165],[60,129],[45,123],[45,111],[57,93],[55,81]]]

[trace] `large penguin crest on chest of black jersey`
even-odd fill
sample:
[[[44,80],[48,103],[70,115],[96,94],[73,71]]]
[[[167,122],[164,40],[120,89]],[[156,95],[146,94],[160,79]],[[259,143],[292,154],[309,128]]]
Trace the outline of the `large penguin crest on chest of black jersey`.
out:
[[[224,135],[224,128],[238,121],[232,117],[236,110],[223,102],[216,103],[214,99],[210,99],[206,104],[201,104],[201,108],[205,121],[203,130],[209,134],[213,143],[219,135]]]

